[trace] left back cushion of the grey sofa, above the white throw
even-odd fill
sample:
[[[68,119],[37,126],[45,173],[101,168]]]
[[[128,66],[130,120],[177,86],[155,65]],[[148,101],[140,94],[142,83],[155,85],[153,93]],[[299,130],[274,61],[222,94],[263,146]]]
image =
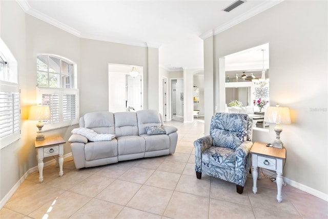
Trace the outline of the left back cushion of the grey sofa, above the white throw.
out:
[[[79,126],[99,134],[115,134],[114,114],[108,111],[89,112],[80,118]]]

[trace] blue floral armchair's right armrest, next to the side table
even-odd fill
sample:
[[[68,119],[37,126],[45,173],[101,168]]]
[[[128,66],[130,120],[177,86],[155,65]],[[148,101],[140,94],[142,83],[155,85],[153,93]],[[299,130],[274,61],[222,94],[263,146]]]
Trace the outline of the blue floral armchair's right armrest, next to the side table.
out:
[[[235,182],[239,186],[244,186],[246,182],[245,172],[248,172],[249,162],[252,162],[249,157],[249,152],[253,146],[253,142],[244,141],[236,149],[236,163],[235,163]]]

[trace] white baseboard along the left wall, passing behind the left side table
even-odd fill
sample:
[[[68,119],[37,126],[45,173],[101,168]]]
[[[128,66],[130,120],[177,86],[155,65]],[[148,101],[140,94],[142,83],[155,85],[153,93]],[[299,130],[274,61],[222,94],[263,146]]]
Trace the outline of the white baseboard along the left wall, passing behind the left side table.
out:
[[[68,158],[71,157],[72,153],[67,153],[63,156],[63,158]],[[48,161],[46,163],[44,163],[44,167],[50,166],[52,164],[55,164],[56,160],[51,160]],[[38,171],[38,167],[32,167],[30,168],[28,171],[26,171],[26,173],[20,177],[20,179],[18,180],[18,182],[10,189],[10,191],[5,195],[5,197],[0,201],[0,209],[2,209],[2,207],[4,207],[6,205],[6,203],[8,202],[8,200],[10,199],[10,197],[15,193],[15,191],[19,188],[20,185],[22,185],[22,183],[24,182],[24,180],[28,177],[28,175],[30,175],[31,173]]]

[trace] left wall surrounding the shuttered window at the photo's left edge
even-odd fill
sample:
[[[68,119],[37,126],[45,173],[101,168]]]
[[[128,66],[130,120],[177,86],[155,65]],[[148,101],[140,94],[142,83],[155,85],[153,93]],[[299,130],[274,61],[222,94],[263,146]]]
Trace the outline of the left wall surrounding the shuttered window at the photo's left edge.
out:
[[[1,38],[14,55],[18,63],[18,83],[23,89],[28,86],[26,70],[26,25],[25,13],[14,1],[0,2],[0,29]],[[19,178],[27,171],[27,161],[33,151],[29,148],[34,142],[27,133],[28,103],[25,103],[26,93],[20,94],[22,134],[20,140],[8,145],[0,151],[0,198],[3,200],[8,191],[16,184]],[[35,130],[35,129],[33,129]],[[36,160],[36,159],[35,159]],[[10,167],[10,168],[9,168]]]

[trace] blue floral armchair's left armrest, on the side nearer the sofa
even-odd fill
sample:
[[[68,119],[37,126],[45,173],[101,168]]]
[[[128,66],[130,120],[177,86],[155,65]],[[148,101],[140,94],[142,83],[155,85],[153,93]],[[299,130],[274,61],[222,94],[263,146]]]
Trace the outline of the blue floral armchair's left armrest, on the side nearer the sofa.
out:
[[[195,171],[201,173],[201,153],[210,148],[213,143],[213,138],[211,135],[207,135],[201,138],[198,138],[194,142],[195,146]]]

